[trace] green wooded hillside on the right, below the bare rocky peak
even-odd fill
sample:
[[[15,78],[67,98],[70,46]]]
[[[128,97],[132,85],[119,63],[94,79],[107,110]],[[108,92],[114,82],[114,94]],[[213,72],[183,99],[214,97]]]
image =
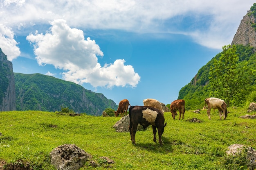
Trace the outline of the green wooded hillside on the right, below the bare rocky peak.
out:
[[[236,45],[236,48],[239,55],[237,68],[242,68],[244,65],[247,65],[248,71],[244,74],[250,79],[247,96],[244,96],[244,100],[240,101],[240,106],[246,106],[249,105],[250,102],[256,101],[256,94],[254,92],[256,87],[256,74],[252,74],[254,70],[256,70],[256,49],[249,45]],[[213,66],[214,59],[219,59],[220,55],[221,53],[217,54],[211,61],[200,68],[191,82],[180,90],[178,99],[184,99],[186,101],[186,109],[202,109],[204,99],[212,97],[210,96],[212,87],[209,84],[209,70],[210,67]]]

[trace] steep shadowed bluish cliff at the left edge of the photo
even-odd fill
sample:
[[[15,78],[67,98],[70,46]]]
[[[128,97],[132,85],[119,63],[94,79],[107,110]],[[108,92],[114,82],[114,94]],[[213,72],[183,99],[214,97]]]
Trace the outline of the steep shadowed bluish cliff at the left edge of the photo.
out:
[[[15,80],[11,61],[0,48],[0,111],[16,110]]]

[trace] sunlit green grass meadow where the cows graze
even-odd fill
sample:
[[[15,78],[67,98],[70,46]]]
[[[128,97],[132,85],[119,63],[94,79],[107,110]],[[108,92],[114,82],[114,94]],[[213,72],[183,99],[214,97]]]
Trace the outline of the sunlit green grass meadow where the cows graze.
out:
[[[0,112],[0,160],[9,164],[29,163],[33,169],[51,170],[49,153],[62,144],[76,146],[92,155],[100,166],[86,163],[81,169],[215,170],[247,169],[243,159],[227,157],[231,144],[245,144],[256,149],[256,120],[242,119],[246,108],[228,108],[227,120],[219,120],[218,111],[186,111],[184,120],[173,120],[164,113],[167,125],[162,135],[164,145],[153,142],[151,126],[135,135],[118,133],[113,125],[120,117],[63,116],[42,111]],[[251,113],[255,114],[255,113]],[[177,116],[176,116],[177,118]],[[198,118],[202,122],[189,122]],[[100,157],[115,161],[106,165]]]

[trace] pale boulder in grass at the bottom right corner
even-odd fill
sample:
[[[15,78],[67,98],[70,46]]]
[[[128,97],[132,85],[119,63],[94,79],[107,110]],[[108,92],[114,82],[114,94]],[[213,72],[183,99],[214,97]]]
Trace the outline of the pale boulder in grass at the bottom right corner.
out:
[[[248,168],[256,168],[256,150],[249,146],[241,145],[241,144],[233,144],[228,147],[227,155],[237,155],[242,152],[242,150],[247,150],[246,159],[249,160]]]

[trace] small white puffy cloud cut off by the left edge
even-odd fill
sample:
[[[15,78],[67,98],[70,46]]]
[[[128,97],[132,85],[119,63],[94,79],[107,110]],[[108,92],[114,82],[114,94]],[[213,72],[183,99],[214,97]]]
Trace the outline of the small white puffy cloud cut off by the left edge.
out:
[[[20,55],[20,48],[17,47],[14,33],[11,28],[0,24],[0,48],[7,55],[7,59],[12,61]]]

